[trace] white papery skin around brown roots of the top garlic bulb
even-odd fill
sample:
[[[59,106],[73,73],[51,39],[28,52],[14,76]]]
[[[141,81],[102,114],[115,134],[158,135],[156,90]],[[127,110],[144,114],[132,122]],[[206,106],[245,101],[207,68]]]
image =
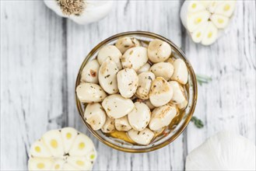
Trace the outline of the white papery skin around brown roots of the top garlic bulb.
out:
[[[81,25],[93,23],[103,19],[112,9],[114,1],[92,1],[92,0],[82,0],[83,1],[83,9],[79,15],[75,15],[75,13],[65,13],[61,9],[61,6],[58,5],[58,1],[56,0],[44,0],[44,4],[51,10],[53,10],[58,16],[62,16],[68,19],[72,19],[75,23],[79,23]],[[68,2],[68,0],[65,0]]]

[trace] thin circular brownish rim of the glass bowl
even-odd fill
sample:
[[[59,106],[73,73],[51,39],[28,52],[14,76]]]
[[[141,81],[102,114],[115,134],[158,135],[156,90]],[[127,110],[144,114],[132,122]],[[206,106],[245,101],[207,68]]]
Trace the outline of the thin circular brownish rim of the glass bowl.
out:
[[[132,37],[132,36],[136,36],[136,35],[137,36],[152,37],[152,38],[155,38],[155,39],[159,38],[160,40],[166,41],[168,44],[171,45],[172,48],[174,48],[180,54],[179,55],[180,58],[182,58],[184,60],[184,62],[186,63],[186,65],[188,67],[188,70],[191,74],[191,82],[193,83],[193,99],[192,99],[193,103],[191,104],[190,113],[188,113],[188,117],[186,117],[186,119],[184,120],[184,123],[181,125],[181,128],[178,129],[173,134],[172,137],[168,138],[167,141],[163,141],[159,145],[150,146],[149,148],[137,148],[137,149],[124,148],[124,147],[114,145],[111,142],[104,140],[103,138],[100,137],[99,134],[96,134],[96,131],[94,131],[91,127],[89,127],[89,124],[87,124],[86,121],[83,118],[82,105],[81,105],[81,103],[78,99],[78,96],[76,96],[76,91],[75,91],[75,103],[76,103],[77,110],[79,110],[79,116],[82,119],[82,123],[85,124],[86,127],[89,129],[89,131],[93,134],[93,136],[96,137],[101,142],[103,142],[103,144],[105,144],[107,146],[110,146],[110,148],[117,149],[121,152],[132,152],[132,153],[153,152],[153,151],[155,151],[159,148],[163,148],[164,146],[169,145],[172,141],[174,141],[177,137],[180,136],[180,134],[188,126],[188,123],[190,122],[191,117],[193,116],[193,113],[195,111],[195,106],[196,106],[196,103],[197,103],[197,99],[198,99],[198,86],[197,86],[195,72],[194,72],[190,62],[186,58],[186,55],[184,54],[184,52],[181,51],[181,49],[179,47],[177,47],[176,44],[174,44],[171,40],[168,40],[166,37],[162,37],[159,34],[147,32],[147,31],[128,31],[128,32],[123,32],[123,33],[117,33],[117,34],[115,34],[111,37],[108,37],[107,39],[101,41],[99,44],[97,44],[95,47],[93,47],[93,49],[89,52],[89,54],[86,55],[86,58],[84,58],[84,60],[82,61],[82,65],[80,65],[79,72],[76,76],[75,89],[76,89],[76,86],[78,86],[79,83],[80,83],[80,77],[79,76],[80,76],[80,73],[82,72],[82,69],[86,65],[89,58],[92,57],[93,54],[95,54],[95,52],[100,49],[100,47],[102,47],[104,44],[107,44],[111,40],[114,40],[118,37],[124,37],[124,36],[131,36]]]

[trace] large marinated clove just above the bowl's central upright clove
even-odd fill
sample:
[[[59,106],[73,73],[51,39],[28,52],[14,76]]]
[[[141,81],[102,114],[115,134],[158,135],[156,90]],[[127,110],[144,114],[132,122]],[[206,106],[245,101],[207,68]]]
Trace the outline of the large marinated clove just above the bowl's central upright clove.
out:
[[[123,68],[133,68],[136,72],[148,61],[146,47],[132,47],[121,58]]]

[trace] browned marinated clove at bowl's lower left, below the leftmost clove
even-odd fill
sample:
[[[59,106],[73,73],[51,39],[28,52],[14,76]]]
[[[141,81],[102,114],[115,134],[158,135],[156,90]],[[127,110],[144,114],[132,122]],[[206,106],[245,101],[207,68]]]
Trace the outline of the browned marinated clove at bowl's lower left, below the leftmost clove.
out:
[[[100,103],[89,103],[86,106],[84,117],[93,130],[100,130],[106,121],[106,113]]]

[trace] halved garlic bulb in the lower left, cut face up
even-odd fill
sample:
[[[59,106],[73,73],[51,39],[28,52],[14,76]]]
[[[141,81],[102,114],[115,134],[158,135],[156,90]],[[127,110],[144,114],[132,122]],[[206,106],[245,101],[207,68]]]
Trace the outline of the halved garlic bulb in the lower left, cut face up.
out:
[[[47,131],[30,148],[29,170],[91,170],[93,141],[72,127]]]

